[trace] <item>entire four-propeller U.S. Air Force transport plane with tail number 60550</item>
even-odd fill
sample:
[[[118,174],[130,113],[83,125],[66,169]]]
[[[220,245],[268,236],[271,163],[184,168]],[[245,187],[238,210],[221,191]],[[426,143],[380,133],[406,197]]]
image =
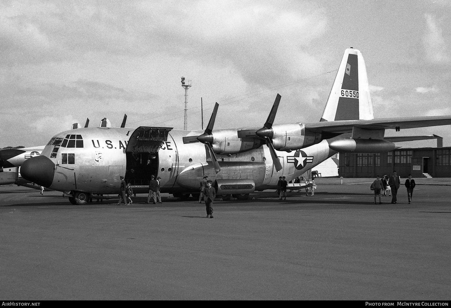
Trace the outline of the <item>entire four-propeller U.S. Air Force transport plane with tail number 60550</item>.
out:
[[[218,104],[205,131],[141,126],[64,131],[51,138],[40,156],[25,161],[21,174],[46,188],[62,191],[73,204],[117,194],[120,175],[135,193],[147,193],[150,175],[161,177],[161,192],[175,197],[198,193],[204,175],[217,194],[247,198],[276,188],[279,176],[294,179],[336,152],[388,152],[386,129],[451,124],[451,116],[374,119],[362,53],[346,49],[321,120],[274,124],[281,96],[262,127],[213,129]],[[104,123],[105,122],[105,123]]]

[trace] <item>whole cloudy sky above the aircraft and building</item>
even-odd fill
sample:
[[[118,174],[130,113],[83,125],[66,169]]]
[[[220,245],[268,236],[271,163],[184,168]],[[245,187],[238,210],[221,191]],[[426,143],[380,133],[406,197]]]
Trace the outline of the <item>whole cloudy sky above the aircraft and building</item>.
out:
[[[316,122],[350,46],[375,118],[451,115],[451,1],[0,2],[0,148],[45,145],[78,122],[215,128]],[[387,130],[438,134],[450,126]],[[435,147],[435,141],[400,143]]]

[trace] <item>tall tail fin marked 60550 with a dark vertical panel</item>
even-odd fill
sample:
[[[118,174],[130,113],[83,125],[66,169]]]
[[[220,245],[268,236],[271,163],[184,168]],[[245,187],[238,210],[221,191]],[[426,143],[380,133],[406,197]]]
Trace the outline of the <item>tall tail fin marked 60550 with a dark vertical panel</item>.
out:
[[[360,51],[345,50],[320,121],[372,120],[365,61]]]

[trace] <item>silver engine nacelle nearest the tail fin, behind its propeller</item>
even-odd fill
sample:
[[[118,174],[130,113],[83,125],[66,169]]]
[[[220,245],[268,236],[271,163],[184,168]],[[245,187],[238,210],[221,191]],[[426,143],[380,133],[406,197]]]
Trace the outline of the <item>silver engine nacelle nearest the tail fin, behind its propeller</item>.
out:
[[[321,133],[305,129],[304,124],[279,124],[272,126],[272,145],[276,150],[298,150],[321,141]]]

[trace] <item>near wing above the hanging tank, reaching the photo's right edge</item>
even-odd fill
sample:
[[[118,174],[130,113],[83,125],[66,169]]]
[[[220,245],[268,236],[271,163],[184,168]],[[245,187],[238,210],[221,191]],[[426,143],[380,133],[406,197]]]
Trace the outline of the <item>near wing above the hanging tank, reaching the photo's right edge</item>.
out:
[[[412,129],[415,127],[451,125],[451,115],[386,118],[373,120],[323,121],[305,123],[305,129],[312,132],[350,133],[353,127],[360,129]]]

